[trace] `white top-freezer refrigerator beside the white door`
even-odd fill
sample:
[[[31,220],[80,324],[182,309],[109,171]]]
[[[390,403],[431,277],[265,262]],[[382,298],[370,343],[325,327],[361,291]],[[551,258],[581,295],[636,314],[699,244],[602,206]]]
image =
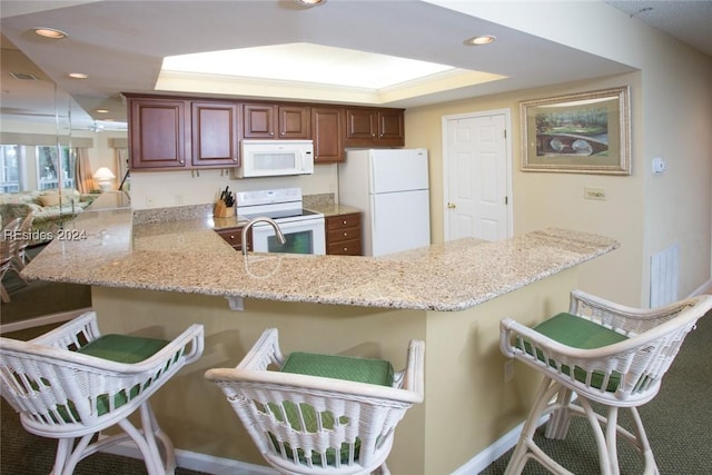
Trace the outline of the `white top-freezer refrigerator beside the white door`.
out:
[[[338,166],[338,196],[363,211],[365,256],[429,246],[426,149],[348,150]]]

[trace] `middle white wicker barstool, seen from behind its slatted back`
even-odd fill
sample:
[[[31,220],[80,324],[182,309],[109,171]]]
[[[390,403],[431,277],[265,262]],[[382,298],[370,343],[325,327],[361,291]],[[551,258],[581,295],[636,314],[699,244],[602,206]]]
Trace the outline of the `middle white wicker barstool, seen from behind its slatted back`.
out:
[[[265,330],[216,383],[267,463],[285,474],[388,474],[396,425],[423,400],[424,350],[411,340],[406,368],[380,359],[293,353]],[[275,370],[269,370],[268,367]]]

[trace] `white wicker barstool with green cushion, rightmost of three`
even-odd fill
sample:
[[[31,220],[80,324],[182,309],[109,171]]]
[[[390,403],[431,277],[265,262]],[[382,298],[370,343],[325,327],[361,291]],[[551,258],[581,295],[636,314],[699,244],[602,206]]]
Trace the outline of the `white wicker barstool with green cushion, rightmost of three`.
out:
[[[534,442],[538,420],[550,415],[545,436],[555,439],[566,437],[572,416],[586,417],[602,474],[620,473],[617,436],[641,453],[645,474],[656,474],[637,407],[655,397],[685,336],[710,309],[709,295],[641,309],[573,290],[568,313],[534,328],[503,319],[502,352],[544,376],[506,473],[522,473],[534,459],[553,473],[571,474]],[[604,414],[592,403],[602,405]],[[630,410],[632,431],[619,424],[621,408]]]

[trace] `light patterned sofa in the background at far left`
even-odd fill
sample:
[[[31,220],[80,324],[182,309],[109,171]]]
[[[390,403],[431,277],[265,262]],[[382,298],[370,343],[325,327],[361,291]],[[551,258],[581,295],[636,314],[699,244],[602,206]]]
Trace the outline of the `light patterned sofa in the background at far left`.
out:
[[[52,240],[57,231],[77,217],[99,195],[79,194],[75,189],[43,191],[19,191],[0,194],[0,217],[2,226],[14,218],[33,215],[30,245],[38,245]]]

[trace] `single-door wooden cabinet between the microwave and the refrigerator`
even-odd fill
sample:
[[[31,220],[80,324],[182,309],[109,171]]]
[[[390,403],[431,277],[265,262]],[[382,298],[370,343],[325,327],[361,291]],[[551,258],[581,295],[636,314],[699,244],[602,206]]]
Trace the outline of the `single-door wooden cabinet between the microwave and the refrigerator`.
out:
[[[335,164],[344,161],[346,113],[343,107],[312,108],[312,140],[314,162]]]

